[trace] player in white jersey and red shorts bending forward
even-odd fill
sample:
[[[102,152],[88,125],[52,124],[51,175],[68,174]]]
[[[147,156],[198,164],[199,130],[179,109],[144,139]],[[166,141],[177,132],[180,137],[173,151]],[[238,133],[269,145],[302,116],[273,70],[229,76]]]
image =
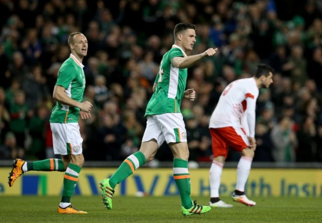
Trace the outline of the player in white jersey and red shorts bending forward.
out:
[[[254,77],[235,80],[221,93],[209,123],[214,154],[209,172],[211,207],[232,207],[219,199],[222,167],[227,158],[228,147],[241,153],[237,166],[236,188],[232,199],[248,206],[256,205],[254,201],[246,197],[244,189],[256,150],[256,100],[259,89],[268,88],[273,82],[273,72],[270,66],[260,64]]]

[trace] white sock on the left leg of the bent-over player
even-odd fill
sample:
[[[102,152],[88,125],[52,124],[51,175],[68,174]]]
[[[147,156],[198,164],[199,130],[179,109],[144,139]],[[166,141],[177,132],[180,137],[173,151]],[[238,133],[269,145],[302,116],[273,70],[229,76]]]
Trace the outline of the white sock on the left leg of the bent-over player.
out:
[[[213,161],[209,171],[210,197],[219,197],[219,187],[221,181],[223,164]]]

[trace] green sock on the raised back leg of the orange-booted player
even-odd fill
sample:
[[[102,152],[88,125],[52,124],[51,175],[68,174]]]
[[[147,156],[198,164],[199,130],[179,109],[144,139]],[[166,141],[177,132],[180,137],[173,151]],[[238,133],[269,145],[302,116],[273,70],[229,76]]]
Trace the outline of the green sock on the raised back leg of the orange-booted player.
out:
[[[48,159],[36,162],[27,162],[27,171],[65,171],[64,163],[59,159]]]

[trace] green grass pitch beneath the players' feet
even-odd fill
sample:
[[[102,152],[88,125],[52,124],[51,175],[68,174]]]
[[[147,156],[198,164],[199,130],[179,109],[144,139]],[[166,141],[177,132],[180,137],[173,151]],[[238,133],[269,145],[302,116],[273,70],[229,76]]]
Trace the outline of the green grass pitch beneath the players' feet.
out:
[[[208,197],[193,197],[201,205]],[[321,198],[253,198],[255,207],[233,203],[233,208],[212,209],[210,213],[183,217],[180,198],[173,197],[114,197],[113,210],[107,210],[100,196],[73,196],[72,204],[88,215],[59,215],[60,197],[0,196],[0,223],[249,223],[249,222],[322,222]]]

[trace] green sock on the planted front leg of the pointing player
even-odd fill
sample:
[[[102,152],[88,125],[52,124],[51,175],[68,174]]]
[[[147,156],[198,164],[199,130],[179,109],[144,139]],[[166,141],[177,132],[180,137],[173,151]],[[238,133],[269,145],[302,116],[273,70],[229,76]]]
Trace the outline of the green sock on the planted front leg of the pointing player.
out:
[[[190,173],[188,171],[188,161],[173,159],[173,178],[178,186],[181,204],[185,209],[192,207]]]

